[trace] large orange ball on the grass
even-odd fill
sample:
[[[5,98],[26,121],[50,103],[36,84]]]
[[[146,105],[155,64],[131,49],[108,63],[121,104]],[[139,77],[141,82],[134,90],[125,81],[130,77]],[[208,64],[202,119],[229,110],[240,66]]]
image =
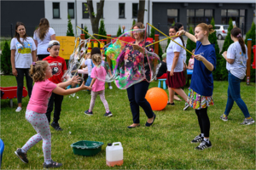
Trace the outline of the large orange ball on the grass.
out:
[[[150,88],[145,98],[148,100],[153,111],[162,111],[165,109],[168,101],[168,95],[162,88]]]

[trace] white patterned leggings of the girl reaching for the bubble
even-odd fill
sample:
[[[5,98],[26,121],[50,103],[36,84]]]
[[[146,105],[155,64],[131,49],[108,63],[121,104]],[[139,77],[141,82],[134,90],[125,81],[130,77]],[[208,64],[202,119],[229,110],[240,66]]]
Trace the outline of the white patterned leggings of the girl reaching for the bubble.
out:
[[[37,144],[43,139],[44,161],[51,160],[51,133],[49,131],[49,122],[45,114],[37,113],[35,111],[26,110],[26,120],[32,124],[32,127],[37,131],[26,144],[22,150],[29,150],[33,145]]]

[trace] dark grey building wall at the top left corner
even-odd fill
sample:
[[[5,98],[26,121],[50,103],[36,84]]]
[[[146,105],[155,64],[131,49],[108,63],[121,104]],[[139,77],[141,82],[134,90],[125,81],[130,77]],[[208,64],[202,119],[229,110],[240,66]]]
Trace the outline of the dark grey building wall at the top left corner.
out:
[[[44,1],[1,1],[1,37],[15,36],[17,21],[26,26],[26,34],[33,35],[41,18],[44,18]],[[13,24],[11,31],[11,24]]]

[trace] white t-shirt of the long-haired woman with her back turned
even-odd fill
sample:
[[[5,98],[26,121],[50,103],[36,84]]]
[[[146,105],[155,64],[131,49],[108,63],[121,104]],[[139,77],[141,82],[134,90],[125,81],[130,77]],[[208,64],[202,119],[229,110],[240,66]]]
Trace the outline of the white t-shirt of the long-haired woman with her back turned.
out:
[[[38,54],[49,54],[49,52],[47,51],[48,43],[51,40],[50,37],[54,34],[55,34],[54,29],[49,28],[49,31],[46,33],[44,40],[42,41],[39,38],[38,33],[36,31],[34,32],[33,38],[34,40],[38,41]]]

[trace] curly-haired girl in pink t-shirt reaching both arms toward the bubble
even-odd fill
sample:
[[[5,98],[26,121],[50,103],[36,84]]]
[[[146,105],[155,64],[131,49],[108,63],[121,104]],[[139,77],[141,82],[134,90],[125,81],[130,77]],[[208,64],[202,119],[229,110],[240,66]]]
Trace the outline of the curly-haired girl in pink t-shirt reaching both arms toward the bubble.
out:
[[[32,75],[35,84],[32,89],[31,99],[26,107],[26,120],[32,124],[37,134],[32,136],[22,148],[18,148],[15,151],[15,155],[24,163],[28,163],[26,158],[27,150],[43,139],[44,167],[61,167],[61,163],[57,163],[51,159],[51,133],[49,131],[47,117],[45,116],[48,99],[52,92],[59,95],[69,95],[83,89],[89,89],[89,87],[82,85],[79,88],[63,89],[71,83],[77,83],[78,77],[73,77],[71,80],[59,84],[50,82],[49,78],[52,77],[52,69],[49,67],[48,62],[44,60],[32,63],[30,75]]]

